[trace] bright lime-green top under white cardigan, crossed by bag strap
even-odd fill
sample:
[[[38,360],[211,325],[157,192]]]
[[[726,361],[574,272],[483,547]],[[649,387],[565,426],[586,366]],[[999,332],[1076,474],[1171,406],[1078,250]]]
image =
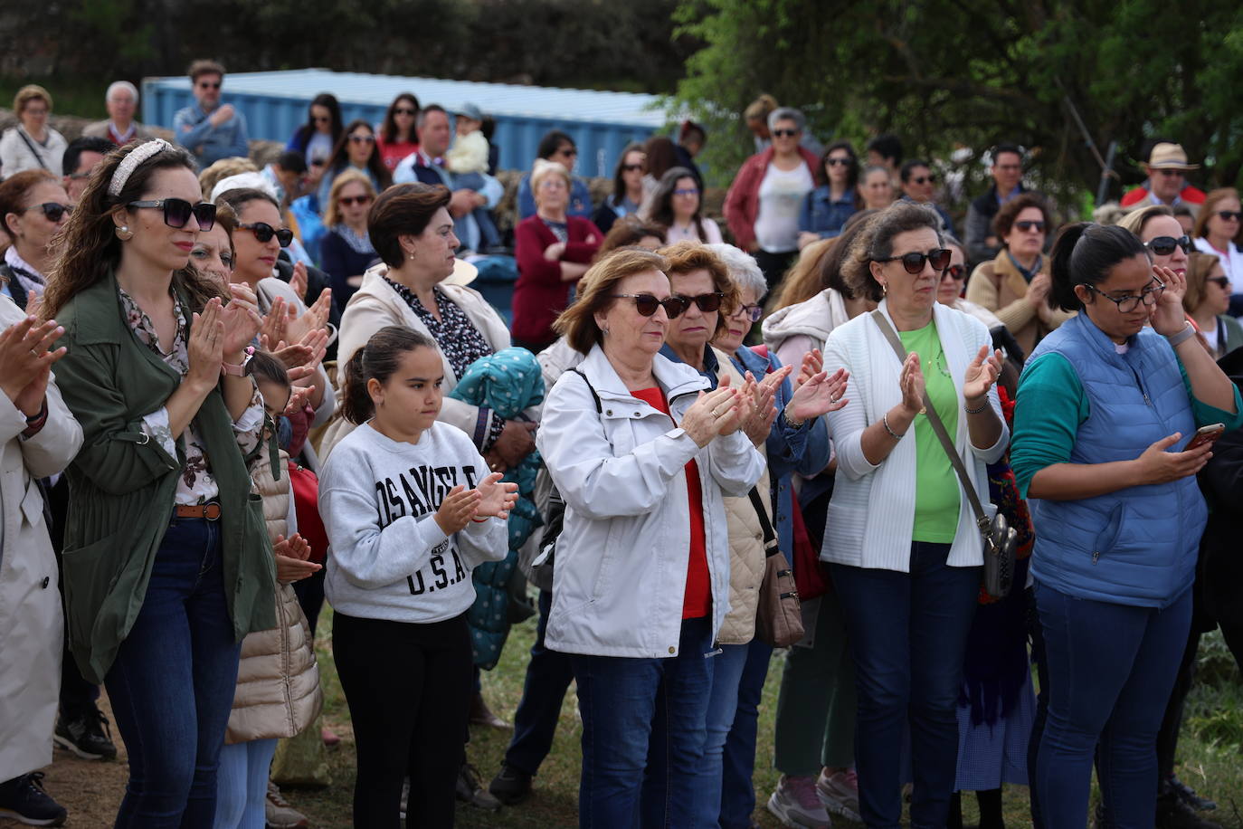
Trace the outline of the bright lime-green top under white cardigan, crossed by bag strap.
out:
[[[950,435],[958,430],[958,389],[941,348],[936,323],[899,334],[907,352],[920,355],[924,385]],[[915,415],[914,541],[951,544],[958,533],[958,477],[926,415]]]

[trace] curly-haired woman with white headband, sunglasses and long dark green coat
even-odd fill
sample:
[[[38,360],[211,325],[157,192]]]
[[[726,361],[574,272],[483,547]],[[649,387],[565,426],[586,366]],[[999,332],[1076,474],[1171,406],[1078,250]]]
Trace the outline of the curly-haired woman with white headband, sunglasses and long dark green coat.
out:
[[[215,205],[163,140],[111,153],[65,227],[41,316],[82,424],[66,475],[68,636],[129,752],[118,827],[211,825],[240,638],[275,623],[272,552],[249,465],[264,406],[246,375],[254,293],[222,305],[186,268]],[[205,297],[210,297],[204,301]]]

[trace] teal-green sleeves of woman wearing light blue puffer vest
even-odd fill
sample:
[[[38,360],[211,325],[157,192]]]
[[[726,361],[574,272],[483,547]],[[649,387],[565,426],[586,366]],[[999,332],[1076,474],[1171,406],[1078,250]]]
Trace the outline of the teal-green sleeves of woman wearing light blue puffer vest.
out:
[[[1236,414],[1201,403],[1191,392],[1191,378],[1178,360],[1182,385],[1191,399],[1196,426],[1224,423],[1226,429],[1243,426],[1243,398],[1234,389]],[[1088,420],[1091,408],[1079,374],[1062,354],[1040,354],[1023,369],[1019,383],[1018,408],[1014,410],[1014,439],[1011,444],[1011,466],[1018,480],[1018,492],[1027,497],[1032,479],[1045,466],[1066,464],[1075,446],[1079,425]],[[1147,446],[1136,446],[1139,457]]]

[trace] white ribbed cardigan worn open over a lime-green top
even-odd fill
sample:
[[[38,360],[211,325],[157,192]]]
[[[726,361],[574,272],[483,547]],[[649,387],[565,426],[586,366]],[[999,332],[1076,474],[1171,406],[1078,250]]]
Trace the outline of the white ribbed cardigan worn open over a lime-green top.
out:
[[[892,324],[888,302],[880,303],[880,311]],[[992,347],[992,338],[982,322],[941,303],[932,306],[932,318],[961,409],[967,365],[981,346]],[[850,372],[845,394],[849,403],[828,415],[838,454],[838,475],[820,559],[907,573],[915,526],[915,431],[914,428],[907,430],[878,465],[870,464],[863,454],[864,430],[902,401],[899,387],[901,360],[870,313],[855,317],[829,334],[824,347],[824,369],[833,374],[839,368]],[[996,444],[983,449],[970,446],[967,415],[961,413],[955,435],[955,446],[966,461],[967,474],[986,510],[989,505],[984,465],[998,460],[1009,445],[1009,430],[1002,418],[996,388],[989,389],[988,403],[1002,420],[1002,433]],[[979,531],[960,485],[958,534],[950,548],[948,564],[979,567],[983,561]]]

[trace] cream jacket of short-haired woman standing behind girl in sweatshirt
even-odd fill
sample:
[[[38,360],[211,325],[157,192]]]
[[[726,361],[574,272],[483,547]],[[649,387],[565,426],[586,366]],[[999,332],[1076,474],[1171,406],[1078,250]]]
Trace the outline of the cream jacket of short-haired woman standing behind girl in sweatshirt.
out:
[[[410,309],[405,300],[398,295],[383,276],[388,273],[388,265],[375,265],[363,275],[363,283],[358,292],[349,298],[349,305],[341,314],[341,333],[337,338],[337,409],[341,410],[342,394],[346,388],[346,363],[359,348],[367,344],[377,331],[384,326],[406,326],[414,328],[424,337],[431,337],[431,332],[423,324],[418,314]],[[487,303],[477,291],[472,291],[461,285],[440,283],[440,290],[445,292],[454,303],[466,312],[470,321],[484,334],[484,339],[492,347],[492,350],[501,350],[510,347],[510,329],[506,327],[501,314]],[[434,337],[431,337],[435,339]],[[457,385],[457,374],[449,359],[444,357],[441,349],[441,362],[445,369],[445,383],[441,388],[445,392],[445,401],[440,409],[438,420],[457,426],[474,437],[479,408],[464,400],[450,398],[449,393]],[[488,420],[484,424],[485,434],[491,428],[495,414],[488,414]],[[327,430],[323,444],[319,446],[319,461],[328,460],[328,454],[337,442],[354,430],[354,424],[338,416]]]

